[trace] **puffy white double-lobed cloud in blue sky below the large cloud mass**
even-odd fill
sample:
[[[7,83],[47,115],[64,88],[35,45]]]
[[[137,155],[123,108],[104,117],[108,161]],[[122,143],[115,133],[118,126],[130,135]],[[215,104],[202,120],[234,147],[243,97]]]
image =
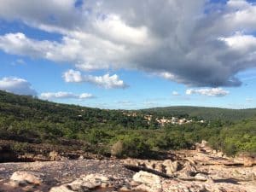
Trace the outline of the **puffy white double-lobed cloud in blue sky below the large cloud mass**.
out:
[[[127,87],[127,84],[125,84],[123,80],[119,79],[119,76],[116,74],[113,74],[112,76],[109,74],[105,74],[103,76],[82,75],[79,71],[70,69],[63,74],[63,79],[67,83],[88,82],[90,84],[96,84],[105,89],[124,89]]]

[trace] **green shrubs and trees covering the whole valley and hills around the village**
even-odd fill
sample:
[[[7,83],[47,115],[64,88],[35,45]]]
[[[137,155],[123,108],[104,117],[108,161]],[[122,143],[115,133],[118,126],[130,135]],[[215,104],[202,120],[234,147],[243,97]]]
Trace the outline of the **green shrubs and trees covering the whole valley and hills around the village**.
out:
[[[63,140],[90,143],[96,154],[148,157],[155,151],[193,148],[207,140],[213,148],[233,155],[256,154],[256,109],[154,108],[136,111],[103,110],[42,101],[0,91],[0,139],[28,143],[60,144]],[[144,119],[153,114],[149,122]],[[205,123],[160,126],[160,117],[207,119]],[[84,148],[87,150],[88,148]]]

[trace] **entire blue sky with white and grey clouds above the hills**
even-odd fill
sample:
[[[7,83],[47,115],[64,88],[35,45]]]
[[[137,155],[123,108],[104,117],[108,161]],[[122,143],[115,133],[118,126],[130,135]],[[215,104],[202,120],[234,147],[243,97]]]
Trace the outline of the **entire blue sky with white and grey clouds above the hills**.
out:
[[[256,108],[256,1],[0,0],[0,90],[92,108]]]

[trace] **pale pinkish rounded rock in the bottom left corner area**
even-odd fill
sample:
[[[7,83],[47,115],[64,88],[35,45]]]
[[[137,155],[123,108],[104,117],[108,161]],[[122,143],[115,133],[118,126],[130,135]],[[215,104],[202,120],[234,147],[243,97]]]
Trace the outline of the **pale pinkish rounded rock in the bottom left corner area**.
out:
[[[41,177],[42,175],[35,172],[14,172],[10,179],[20,184],[30,183],[40,185],[43,182]]]

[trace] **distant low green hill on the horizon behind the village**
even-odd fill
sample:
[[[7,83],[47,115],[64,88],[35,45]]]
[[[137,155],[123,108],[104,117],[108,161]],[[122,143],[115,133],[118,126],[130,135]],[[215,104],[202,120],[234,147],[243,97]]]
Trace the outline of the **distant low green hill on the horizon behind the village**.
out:
[[[205,120],[230,120],[239,121],[241,119],[253,118],[256,116],[256,108],[247,109],[229,109],[229,108],[205,108],[177,106],[167,108],[148,108],[141,110],[142,113],[151,113],[156,116],[183,116],[194,117]]]

